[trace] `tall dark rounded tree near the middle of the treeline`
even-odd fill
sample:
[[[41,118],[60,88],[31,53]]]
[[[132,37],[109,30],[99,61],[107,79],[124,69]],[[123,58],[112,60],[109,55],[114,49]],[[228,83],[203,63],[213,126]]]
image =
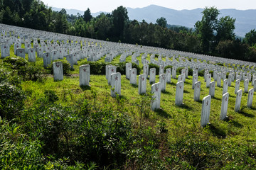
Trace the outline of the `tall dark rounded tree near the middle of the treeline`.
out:
[[[123,6],[119,6],[112,11],[113,24],[114,24],[114,36],[122,39],[124,35],[124,27],[129,21],[127,9]]]

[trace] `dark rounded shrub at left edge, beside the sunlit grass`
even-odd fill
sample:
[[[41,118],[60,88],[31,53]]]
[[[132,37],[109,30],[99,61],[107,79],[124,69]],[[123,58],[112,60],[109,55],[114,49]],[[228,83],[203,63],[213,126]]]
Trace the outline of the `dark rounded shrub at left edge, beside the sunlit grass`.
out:
[[[0,84],[0,116],[11,120],[23,110],[24,92],[9,84]]]

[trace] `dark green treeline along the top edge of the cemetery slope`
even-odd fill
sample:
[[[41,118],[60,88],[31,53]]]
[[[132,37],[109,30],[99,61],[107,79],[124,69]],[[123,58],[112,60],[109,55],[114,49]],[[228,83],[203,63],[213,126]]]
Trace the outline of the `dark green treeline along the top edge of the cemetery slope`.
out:
[[[0,21],[9,25],[256,62],[256,31],[251,30],[244,40],[235,38],[235,19],[230,16],[218,19],[220,11],[214,7],[205,8],[195,29],[188,29],[168,25],[163,17],[156,24],[130,21],[123,6],[92,17],[89,8],[83,15],[74,16],[65,9],[52,11],[36,0],[0,2]]]

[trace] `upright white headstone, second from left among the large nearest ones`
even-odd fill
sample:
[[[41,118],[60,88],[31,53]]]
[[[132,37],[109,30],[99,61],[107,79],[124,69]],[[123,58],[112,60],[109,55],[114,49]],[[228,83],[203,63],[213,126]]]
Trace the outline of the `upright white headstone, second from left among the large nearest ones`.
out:
[[[90,65],[85,64],[79,67],[79,84],[80,86],[89,86],[90,82]]]

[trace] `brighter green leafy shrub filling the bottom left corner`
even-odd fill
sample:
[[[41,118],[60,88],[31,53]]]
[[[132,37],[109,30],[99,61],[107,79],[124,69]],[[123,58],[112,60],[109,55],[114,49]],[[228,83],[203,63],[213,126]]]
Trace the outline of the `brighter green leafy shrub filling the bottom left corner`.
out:
[[[0,117],[0,169],[44,169],[38,140],[26,140],[16,123]]]

